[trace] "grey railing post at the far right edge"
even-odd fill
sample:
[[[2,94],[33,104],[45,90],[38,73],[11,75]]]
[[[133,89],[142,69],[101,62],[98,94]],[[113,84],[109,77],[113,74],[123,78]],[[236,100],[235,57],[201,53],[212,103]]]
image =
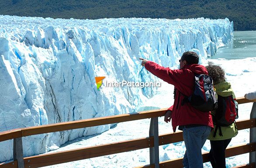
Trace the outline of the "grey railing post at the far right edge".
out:
[[[253,103],[253,108],[250,114],[250,118],[256,118],[256,102]],[[250,128],[250,143],[256,142],[256,128]],[[256,162],[256,152],[250,152],[249,163]],[[256,168],[256,165],[255,165]]]

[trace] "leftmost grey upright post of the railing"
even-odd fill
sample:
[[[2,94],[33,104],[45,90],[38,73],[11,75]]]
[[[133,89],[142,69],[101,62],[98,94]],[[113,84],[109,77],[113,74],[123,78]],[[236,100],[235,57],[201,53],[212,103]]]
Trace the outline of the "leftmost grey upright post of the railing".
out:
[[[14,138],[14,161],[17,160],[18,168],[24,168],[22,137]]]

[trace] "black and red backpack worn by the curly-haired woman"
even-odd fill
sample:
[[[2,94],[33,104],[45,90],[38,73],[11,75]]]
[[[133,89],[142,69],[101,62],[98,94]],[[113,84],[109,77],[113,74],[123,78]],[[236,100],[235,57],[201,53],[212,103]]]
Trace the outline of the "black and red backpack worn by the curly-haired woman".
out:
[[[215,115],[212,120],[216,125],[213,137],[216,136],[219,129],[219,135],[222,135],[220,126],[229,126],[235,122],[238,118],[238,103],[235,101],[232,95],[228,97],[222,97],[218,95],[218,108],[215,111]]]

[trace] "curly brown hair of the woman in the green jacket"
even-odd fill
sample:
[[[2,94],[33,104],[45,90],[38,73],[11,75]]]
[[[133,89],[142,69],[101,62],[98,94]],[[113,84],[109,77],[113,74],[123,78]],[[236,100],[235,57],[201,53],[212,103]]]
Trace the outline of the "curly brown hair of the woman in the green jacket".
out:
[[[225,81],[225,71],[218,65],[214,65],[212,62],[208,62],[206,66],[208,75],[213,79],[213,84],[218,84]]]

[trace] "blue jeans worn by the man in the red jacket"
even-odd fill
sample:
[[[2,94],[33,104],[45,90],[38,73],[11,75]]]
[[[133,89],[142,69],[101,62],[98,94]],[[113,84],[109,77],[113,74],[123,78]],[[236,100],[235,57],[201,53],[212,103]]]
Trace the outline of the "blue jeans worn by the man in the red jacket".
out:
[[[186,152],[182,163],[185,168],[204,168],[201,149],[210,132],[211,127],[206,125],[183,128]]]

